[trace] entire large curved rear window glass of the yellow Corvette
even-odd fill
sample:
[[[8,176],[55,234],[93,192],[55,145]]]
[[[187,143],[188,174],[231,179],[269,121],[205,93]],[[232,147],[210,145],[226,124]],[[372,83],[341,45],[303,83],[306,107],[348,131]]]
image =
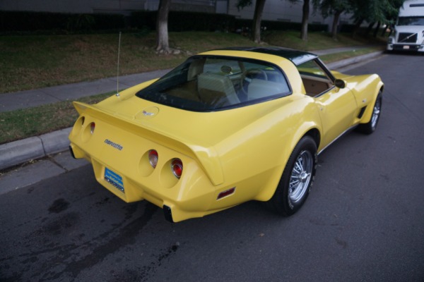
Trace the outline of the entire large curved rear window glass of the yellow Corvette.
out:
[[[280,68],[224,56],[194,56],[136,95],[189,111],[246,106],[290,94]]]

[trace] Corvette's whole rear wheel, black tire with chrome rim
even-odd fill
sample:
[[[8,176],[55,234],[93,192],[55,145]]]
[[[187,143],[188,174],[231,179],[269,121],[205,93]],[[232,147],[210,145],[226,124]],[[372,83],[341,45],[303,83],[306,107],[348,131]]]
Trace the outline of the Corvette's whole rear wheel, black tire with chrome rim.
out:
[[[270,209],[283,216],[298,212],[314,183],[317,159],[317,144],[310,136],[302,137],[285,165],[276,192],[267,202]]]

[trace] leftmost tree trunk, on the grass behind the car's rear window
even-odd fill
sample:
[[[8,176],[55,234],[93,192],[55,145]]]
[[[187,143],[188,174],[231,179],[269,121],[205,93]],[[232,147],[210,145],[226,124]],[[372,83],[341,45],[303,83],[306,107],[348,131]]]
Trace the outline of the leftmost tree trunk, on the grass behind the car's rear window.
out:
[[[171,0],[160,0],[158,8],[158,20],[156,21],[157,45],[156,51],[170,54],[168,42],[167,16],[170,12]]]

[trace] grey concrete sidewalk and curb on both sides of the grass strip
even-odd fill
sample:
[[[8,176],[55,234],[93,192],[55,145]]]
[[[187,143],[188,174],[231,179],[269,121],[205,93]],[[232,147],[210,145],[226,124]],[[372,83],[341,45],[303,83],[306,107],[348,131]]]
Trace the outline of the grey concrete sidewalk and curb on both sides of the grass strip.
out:
[[[352,49],[358,49],[358,47],[320,50],[312,53],[319,55],[334,54]],[[373,59],[381,54],[382,52],[378,51],[363,56],[353,57],[351,59],[329,63],[327,66],[331,70],[347,71],[348,68],[357,67],[357,63]],[[353,66],[354,64],[355,66]],[[152,71],[148,73],[119,77],[119,90],[153,78],[158,78],[168,71],[169,70]],[[117,90],[117,78],[104,78],[93,82],[79,82],[38,90],[0,94],[0,112],[25,109],[59,101],[73,100],[80,97],[111,92],[114,90]],[[11,166],[23,164],[26,161],[40,159],[51,154],[66,151],[69,146],[68,135],[70,131],[71,128],[66,128],[52,133],[47,133],[45,135],[30,137],[24,140],[0,145],[0,171]]]

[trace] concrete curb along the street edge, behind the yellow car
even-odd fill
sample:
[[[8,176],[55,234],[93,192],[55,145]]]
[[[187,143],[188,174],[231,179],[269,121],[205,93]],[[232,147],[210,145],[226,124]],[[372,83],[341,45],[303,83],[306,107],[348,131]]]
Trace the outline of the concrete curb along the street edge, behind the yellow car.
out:
[[[355,63],[374,59],[381,54],[381,51],[377,51],[342,61],[336,61],[334,63],[328,63],[327,66],[332,70],[343,68]],[[49,154],[66,151],[69,147],[68,135],[71,129],[72,128],[65,128],[38,137],[30,137],[24,140],[0,145],[0,170],[22,164],[32,159],[40,159]]]

